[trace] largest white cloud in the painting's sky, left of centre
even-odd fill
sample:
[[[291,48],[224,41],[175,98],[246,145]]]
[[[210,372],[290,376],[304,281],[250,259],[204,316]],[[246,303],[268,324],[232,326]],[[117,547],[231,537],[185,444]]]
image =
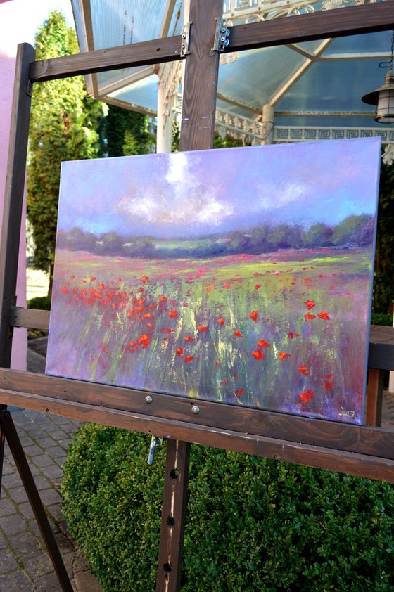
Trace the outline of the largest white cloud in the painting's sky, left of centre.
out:
[[[186,154],[170,157],[164,176],[153,174],[134,186],[115,205],[115,213],[150,224],[219,225],[234,213],[234,207],[215,195],[191,169]]]

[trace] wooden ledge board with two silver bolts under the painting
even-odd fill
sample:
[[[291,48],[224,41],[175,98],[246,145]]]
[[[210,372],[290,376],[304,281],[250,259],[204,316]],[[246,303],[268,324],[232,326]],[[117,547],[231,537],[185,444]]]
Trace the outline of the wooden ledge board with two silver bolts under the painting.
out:
[[[136,413],[152,420],[163,418],[168,425],[173,420],[210,426],[212,432],[228,428],[232,432],[303,442],[311,446],[366,453],[394,459],[394,430],[381,427],[364,427],[333,421],[319,420],[286,413],[274,413],[241,406],[224,405],[198,399],[200,413],[194,415],[192,406],[196,399],[174,397],[169,394],[151,393],[153,402],[147,404],[147,392],[97,385],[93,382],[55,378],[42,374],[1,368],[0,384],[6,391],[19,392],[21,396],[51,399],[54,393],[72,403],[113,408],[115,411]],[[0,397],[0,402],[5,402]],[[13,405],[18,403],[14,402]],[[144,430],[141,430],[144,431]]]

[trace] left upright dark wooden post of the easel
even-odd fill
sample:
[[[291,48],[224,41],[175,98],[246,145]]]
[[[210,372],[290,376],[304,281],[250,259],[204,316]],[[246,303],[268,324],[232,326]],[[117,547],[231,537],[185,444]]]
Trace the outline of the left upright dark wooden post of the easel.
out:
[[[23,189],[29,135],[31,88],[29,67],[35,56],[29,44],[18,46],[8,149],[3,226],[0,247],[0,365],[9,366],[13,330],[9,324],[11,305],[15,304]]]

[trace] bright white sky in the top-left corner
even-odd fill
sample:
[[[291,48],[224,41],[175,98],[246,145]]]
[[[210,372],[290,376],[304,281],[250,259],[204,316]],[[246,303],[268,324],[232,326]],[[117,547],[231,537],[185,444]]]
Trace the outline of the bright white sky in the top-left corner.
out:
[[[68,25],[75,28],[71,0],[11,0],[0,6],[1,49],[9,56],[16,55],[18,43],[30,43],[34,46],[34,34],[51,11],[58,9],[63,12]],[[13,21],[15,27],[10,26]]]

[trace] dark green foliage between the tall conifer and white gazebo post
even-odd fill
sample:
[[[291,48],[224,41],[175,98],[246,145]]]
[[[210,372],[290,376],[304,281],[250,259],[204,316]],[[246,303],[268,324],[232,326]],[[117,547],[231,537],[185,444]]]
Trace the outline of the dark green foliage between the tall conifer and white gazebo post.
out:
[[[117,105],[108,105],[101,122],[101,156],[132,156],[151,152],[148,116]]]

